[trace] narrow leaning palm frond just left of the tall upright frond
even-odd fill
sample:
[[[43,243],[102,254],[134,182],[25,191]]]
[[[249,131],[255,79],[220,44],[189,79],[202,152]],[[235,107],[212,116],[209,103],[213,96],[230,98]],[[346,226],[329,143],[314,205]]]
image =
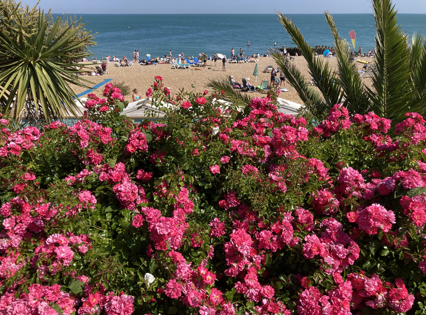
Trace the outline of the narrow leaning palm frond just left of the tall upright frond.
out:
[[[325,20],[330,26],[335,39],[339,79],[345,98],[343,105],[351,115],[355,113],[365,114],[370,110],[370,100],[364,89],[364,84],[358,74],[356,65],[352,60],[349,44],[339,36],[333,16],[328,11],[325,11],[324,14]]]

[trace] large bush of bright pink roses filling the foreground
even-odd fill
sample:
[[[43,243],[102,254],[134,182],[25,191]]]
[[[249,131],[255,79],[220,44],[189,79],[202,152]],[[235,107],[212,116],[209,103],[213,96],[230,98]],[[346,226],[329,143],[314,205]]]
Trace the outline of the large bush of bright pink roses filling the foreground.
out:
[[[182,92],[134,124],[120,92],[72,126],[0,119],[0,314],[426,313],[422,116]]]

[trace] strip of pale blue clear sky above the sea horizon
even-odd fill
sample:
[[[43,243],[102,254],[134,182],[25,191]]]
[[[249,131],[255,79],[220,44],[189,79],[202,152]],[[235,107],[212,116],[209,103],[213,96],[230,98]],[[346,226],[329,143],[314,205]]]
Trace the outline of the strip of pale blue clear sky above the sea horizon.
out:
[[[23,0],[34,6],[37,0]],[[161,3],[161,4],[160,4]],[[426,0],[394,0],[399,13],[426,14]],[[367,0],[41,0],[53,13],[371,13]]]

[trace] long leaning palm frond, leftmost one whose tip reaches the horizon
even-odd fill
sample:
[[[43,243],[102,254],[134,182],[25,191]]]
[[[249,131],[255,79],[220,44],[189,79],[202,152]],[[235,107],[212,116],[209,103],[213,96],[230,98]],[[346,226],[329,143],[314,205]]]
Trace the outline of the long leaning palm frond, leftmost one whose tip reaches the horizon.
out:
[[[336,74],[331,71],[329,64],[325,63],[322,58],[315,58],[313,56],[312,48],[308,45],[301,31],[293,22],[282,13],[277,12],[277,14],[279,22],[289,33],[290,38],[296,46],[302,51],[304,59],[308,64],[309,73],[324,97],[327,108],[331,109],[335,104],[340,103],[342,99],[341,86]]]

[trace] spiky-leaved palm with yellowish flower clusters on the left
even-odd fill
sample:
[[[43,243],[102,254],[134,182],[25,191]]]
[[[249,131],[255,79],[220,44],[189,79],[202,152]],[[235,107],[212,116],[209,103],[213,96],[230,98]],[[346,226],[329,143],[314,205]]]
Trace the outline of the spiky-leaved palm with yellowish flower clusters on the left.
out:
[[[20,14],[19,5],[12,10],[15,15]],[[80,71],[75,66],[82,65],[72,61],[90,55],[85,48],[93,44],[93,36],[87,32],[81,36],[85,30],[80,22],[64,26],[62,19],[57,18],[51,23],[50,12],[45,15],[39,10],[32,23],[20,25],[1,13],[1,111],[7,114],[13,110],[18,122],[25,120],[31,124],[74,115],[76,94],[70,84],[85,84],[76,76]]]

